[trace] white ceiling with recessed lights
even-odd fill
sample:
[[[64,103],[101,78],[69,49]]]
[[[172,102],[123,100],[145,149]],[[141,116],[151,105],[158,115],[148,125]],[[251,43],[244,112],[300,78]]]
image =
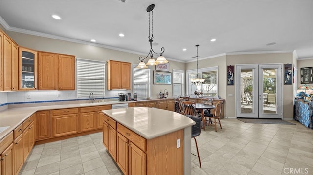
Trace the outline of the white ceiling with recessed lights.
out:
[[[146,55],[150,4],[155,4],[153,34],[158,43],[153,49],[164,47],[169,60],[194,61],[196,44],[199,59],[294,50],[299,59],[313,58],[312,0],[0,0],[0,16],[10,31]]]

